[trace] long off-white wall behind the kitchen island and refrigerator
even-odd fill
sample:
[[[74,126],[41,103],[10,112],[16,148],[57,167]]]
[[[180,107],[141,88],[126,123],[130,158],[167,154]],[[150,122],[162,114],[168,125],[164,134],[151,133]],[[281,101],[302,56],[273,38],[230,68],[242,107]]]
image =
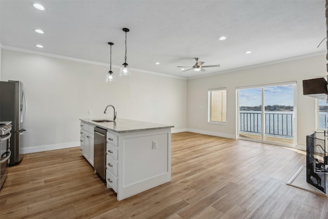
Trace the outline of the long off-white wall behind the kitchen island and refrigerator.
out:
[[[187,81],[132,71],[106,83],[107,66],[2,49],[1,80],[24,83],[27,114],[23,153],[79,145],[79,118],[117,117],[187,129]],[[89,115],[88,111],[92,111]]]

